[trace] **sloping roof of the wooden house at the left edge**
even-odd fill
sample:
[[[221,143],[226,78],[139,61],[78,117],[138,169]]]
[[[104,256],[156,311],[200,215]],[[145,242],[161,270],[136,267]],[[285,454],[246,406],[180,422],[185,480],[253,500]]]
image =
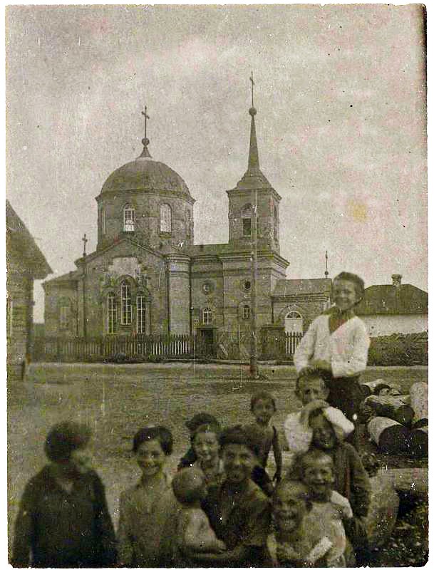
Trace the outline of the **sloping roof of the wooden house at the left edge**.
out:
[[[31,233],[21,222],[9,200],[6,200],[6,259],[13,252],[19,257],[24,269],[32,271],[35,279],[44,279],[53,272]]]

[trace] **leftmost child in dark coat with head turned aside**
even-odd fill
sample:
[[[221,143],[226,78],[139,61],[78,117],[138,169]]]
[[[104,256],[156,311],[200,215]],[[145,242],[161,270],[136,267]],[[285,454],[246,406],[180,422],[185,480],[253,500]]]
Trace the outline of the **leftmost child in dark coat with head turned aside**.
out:
[[[48,433],[49,463],[26,484],[16,519],[12,566],[113,566],[115,533],[105,490],[91,469],[85,425],[64,422]]]

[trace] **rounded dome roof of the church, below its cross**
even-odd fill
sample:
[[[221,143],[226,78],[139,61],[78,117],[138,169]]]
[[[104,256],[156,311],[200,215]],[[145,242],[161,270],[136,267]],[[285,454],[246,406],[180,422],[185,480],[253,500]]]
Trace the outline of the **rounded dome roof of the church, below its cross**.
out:
[[[121,166],[105,180],[101,194],[128,190],[172,190],[181,195],[190,196],[187,185],[175,170],[164,162],[150,157],[147,145],[142,155],[132,162]]]

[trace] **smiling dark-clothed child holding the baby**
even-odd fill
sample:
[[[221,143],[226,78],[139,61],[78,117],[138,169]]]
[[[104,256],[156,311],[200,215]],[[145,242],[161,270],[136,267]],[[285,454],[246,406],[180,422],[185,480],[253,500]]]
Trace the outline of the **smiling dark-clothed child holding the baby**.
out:
[[[269,500],[251,479],[254,448],[240,425],[222,432],[220,446],[226,480],[210,489],[206,512],[227,551],[195,560],[204,566],[262,566],[271,513]]]

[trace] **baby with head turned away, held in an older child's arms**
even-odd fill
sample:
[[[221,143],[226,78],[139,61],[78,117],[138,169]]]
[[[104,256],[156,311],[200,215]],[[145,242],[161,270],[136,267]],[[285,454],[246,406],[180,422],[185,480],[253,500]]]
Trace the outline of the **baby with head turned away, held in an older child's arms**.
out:
[[[226,550],[210,527],[207,515],[200,504],[207,495],[205,476],[201,470],[183,469],[172,480],[172,488],[182,510],[177,519],[175,565],[188,568],[195,564],[190,556],[205,552]]]

